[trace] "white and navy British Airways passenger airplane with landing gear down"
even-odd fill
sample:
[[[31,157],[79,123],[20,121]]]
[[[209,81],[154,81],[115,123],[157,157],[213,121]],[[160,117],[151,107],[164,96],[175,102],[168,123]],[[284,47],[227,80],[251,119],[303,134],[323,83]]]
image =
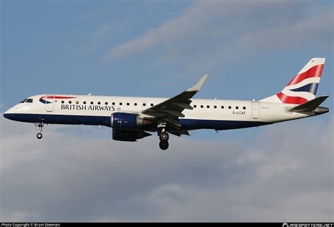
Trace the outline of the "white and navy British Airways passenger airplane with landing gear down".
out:
[[[168,149],[171,133],[190,135],[190,130],[258,127],[325,114],[316,97],[325,58],[311,59],[278,94],[255,101],[192,99],[207,75],[196,85],[172,98],[114,97],[72,94],[37,94],[4,113],[13,121],[35,123],[42,139],[44,124],[104,125],[113,140],[135,142],[157,133],[159,147]]]

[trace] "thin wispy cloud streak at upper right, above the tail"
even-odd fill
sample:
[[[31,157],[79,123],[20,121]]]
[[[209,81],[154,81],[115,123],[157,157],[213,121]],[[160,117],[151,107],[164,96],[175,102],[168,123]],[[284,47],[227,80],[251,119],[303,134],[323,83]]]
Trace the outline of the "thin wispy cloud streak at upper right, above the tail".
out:
[[[332,31],[333,11],[301,1],[198,1],[180,17],[113,47],[104,60],[151,54],[164,63],[209,68],[260,51],[333,48]]]

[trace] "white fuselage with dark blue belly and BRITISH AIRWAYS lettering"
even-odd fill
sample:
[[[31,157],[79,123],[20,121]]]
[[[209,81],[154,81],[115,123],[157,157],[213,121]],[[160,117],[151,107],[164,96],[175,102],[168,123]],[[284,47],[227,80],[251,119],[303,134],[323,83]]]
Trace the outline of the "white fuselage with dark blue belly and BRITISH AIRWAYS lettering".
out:
[[[125,112],[141,115],[144,109],[159,104],[167,98],[40,94],[29,99],[32,99],[32,102],[19,103],[6,111],[6,118],[30,123],[110,127],[111,114]],[[287,111],[296,106],[293,104],[223,99],[191,100],[190,105],[194,109],[185,109],[183,111],[185,117],[179,118],[185,130],[248,128],[314,116],[314,114]]]

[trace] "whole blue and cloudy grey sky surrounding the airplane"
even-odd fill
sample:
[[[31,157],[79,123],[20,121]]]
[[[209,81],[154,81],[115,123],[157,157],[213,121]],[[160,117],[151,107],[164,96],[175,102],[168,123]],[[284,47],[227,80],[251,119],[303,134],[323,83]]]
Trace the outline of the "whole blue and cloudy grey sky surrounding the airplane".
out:
[[[333,1],[0,1],[3,113],[34,94],[262,99],[313,57],[333,109]],[[136,143],[0,118],[0,221],[334,221],[330,112]]]

